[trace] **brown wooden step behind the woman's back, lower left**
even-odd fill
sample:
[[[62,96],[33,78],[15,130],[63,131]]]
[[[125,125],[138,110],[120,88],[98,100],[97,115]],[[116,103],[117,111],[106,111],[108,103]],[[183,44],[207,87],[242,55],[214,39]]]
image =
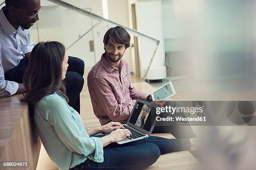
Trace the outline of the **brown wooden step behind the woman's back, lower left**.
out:
[[[0,98],[0,162],[28,161],[34,170],[38,162],[41,140],[28,114],[28,103],[20,102],[23,95]],[[17,168],[3,168],[17,170]],[[20,168],[18,168],[20,169]]]

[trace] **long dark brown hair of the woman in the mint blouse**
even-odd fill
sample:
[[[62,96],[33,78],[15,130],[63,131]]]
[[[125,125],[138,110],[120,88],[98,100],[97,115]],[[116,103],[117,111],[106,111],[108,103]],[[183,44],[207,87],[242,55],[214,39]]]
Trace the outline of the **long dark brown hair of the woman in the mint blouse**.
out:
[[[62,62],[66,49],[56,41],[39,42],[32,50],[28,67],[23,77],[26,88],[25,101],[34,105],[45,95],[56,91],[65,97],[66,88],[62,79]]]

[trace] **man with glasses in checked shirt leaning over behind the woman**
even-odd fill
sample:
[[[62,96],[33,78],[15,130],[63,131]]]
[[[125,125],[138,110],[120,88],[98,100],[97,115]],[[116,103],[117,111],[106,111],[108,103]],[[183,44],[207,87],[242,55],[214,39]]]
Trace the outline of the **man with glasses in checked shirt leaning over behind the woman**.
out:
[[[0,10],[0,97],[26,91],[23,75],[35,45],[30,28],[39,20],[40,0],[5,0]],[[80,92],[84,85],[84,62],[69,57],[65,82],[69,105],[80,112]]]

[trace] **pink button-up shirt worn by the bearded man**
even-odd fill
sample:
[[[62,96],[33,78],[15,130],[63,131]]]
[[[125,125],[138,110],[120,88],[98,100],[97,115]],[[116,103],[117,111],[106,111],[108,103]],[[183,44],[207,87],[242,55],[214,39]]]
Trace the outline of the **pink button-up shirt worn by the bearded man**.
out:
[[[121,59],[118,68],[102,55],[87,77],[94,114],[101,125],[110,121],[126,123],[136,99],[145,94],[131,86],[128,63]]]

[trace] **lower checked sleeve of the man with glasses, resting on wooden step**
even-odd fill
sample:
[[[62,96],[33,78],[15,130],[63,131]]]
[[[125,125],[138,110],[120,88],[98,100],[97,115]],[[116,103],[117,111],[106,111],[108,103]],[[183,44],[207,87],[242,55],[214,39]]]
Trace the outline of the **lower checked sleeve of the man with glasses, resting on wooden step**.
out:
[[[2,55],[0,46],[0,97],[14,95],[18,90],[18,83],[5,80],[5,73],[2,65]]]

